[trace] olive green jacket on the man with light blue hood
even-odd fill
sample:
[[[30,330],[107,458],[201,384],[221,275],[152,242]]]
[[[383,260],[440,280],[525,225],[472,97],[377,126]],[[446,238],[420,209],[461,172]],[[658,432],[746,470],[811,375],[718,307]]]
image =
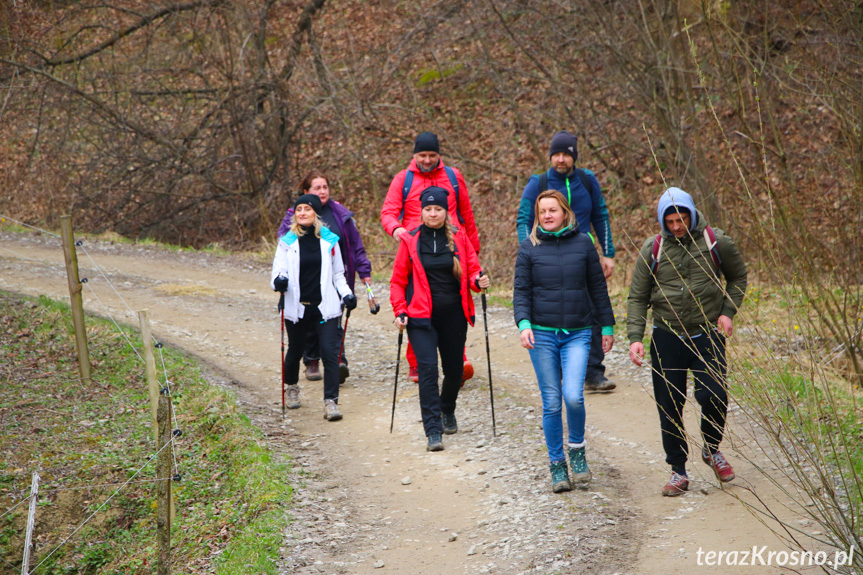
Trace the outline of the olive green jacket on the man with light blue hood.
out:
[[[716,228],[722,277],[704,239],[707,221],[698,212],[691,235],[678,240],[663,231],[665,241],[655,273],[651,273],[653,242],[649,237],[638,254],[626,310],[629,342],[641,341],[647,308],[653,308],[653,325],[679,335],[694,336],[716,325],[720,315],[734,317],[746,293],[746,264],[734,242]]]

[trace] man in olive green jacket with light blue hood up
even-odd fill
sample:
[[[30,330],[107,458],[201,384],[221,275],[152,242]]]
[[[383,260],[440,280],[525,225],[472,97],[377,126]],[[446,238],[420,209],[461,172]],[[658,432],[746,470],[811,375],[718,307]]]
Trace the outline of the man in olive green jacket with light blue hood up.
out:
[[[682,417],[688,370],[693,373],[695,399],[701,405],[701,458],[721,482],[734,479],[734,470],[719,451],[728,410],[725,340],[731,336],[734,315],[743,303],[747,272],[731,238],[708,228],[692,197],[683,190],[666,190],[659,199],[657,216],[662,232],[648,238],[639,252],[626,326],[629,357],[640,366],[647,310],[653,310],[653,392],[665,461],[671,466],[671,479],[662,494],[673,497],[689,488]]]

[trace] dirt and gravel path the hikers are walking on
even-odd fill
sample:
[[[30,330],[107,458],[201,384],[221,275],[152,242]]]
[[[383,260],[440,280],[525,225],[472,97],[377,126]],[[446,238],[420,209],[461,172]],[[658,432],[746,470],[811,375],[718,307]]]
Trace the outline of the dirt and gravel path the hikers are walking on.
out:
[[[324,421],[320,383],[302,378],[303,407],[282,420],[268,266],[106,242],[87,242],[83,249],[90,311],[137,325],[88,254],[132,310],[150,310],[158,338],[211,364],[211,379],[235,389],[274,449],[294,459],[288,479],[296,487],[296,508],[280,561],[285,573],[779,572],[698,564],[699,549],[786,549],[729,496],[751,500],[741,487],[747,480],[762,498],[775,494],[729,445],[739,479],[727,492],[697,462],[690,493],[661,497],[667,471],[646,392],[649,373],[631,367],[620,342],[607,359],[618,391],[587,397],[594,481],[587,491],[554,495],[541,402],[509,310],[491,309],[489,317],[497,437],[479,319],[468,349],[478,376],[459,398],[459,433],[445,436],[444,452],[428,454],[404,360],[395,431],[388,433],[397,332],[382,284],[375,286],[381,313],[372,316],[361,306],[350,320],[344,420]],[[0,233],[2,289],[63,299],[62,261],[57,238]],[[687,427],[697,429],[691,409],[688,417]],[[742,425],[738,419],[732,414],[732,430]]]

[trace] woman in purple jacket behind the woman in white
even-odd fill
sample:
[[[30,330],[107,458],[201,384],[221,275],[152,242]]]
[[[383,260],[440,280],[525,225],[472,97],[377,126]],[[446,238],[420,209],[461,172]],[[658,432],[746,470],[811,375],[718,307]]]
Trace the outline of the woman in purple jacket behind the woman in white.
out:
[[[363,246],[363,240],[353,219],[354,213],[339,202],[330,199],[330,183],[326,174],[319,170],[312,170],[306,174],[306,177],[300,182],[300,194],[314,194],[321,199],[323,207],[318,216],[331,232],[339,236],[339,250],[345,264],[345,279],[348,282],[348,287],[353,291],[355,274],[359,274],[360,281],[368,286],[372,281],[372,264],[366,256],[366,248]],[[294,209],[290,208],[285,213],[282,225],[279,226],[279,238],[288,233],[293,218]],[[339,325],[339,339],[343,337],[344,330]],[[306,379],[309,381],[317,381],[322,378],[320,358],[320,343],[317,333],[310,330],[306,341],[306,351],[303,354]],[[344,350],[342,350],[342,355],[339,358],[339,383],[344,383],[348,375],[350,375],[348,360]]]

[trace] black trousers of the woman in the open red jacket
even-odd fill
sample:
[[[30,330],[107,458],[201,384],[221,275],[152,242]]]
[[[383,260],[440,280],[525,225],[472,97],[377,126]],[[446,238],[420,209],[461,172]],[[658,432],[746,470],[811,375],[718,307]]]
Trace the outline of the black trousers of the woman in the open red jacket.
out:
[[[408,338],[417,356],[420,411],[426,435],[443,433],[441,412],[455,413],[464,368],[467,320],[461,302],[432,309],[431,325],[417,326],[408,320]],[[438,391],[437,356],[440,351],[443,384]]]

